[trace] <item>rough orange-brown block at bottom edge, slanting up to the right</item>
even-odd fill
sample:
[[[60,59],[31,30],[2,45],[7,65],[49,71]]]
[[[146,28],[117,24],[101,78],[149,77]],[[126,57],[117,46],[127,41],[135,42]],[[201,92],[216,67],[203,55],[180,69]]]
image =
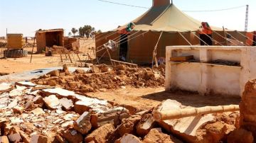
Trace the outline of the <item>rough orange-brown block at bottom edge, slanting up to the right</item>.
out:
[[[108,137],[111,137],[112,132],[114,132],[114,125],[103,125],[102,127],[99,127],[96,130],[94,130],[90,135],[87,135],[87,137],[85,137],[85,142],[107,142]]]

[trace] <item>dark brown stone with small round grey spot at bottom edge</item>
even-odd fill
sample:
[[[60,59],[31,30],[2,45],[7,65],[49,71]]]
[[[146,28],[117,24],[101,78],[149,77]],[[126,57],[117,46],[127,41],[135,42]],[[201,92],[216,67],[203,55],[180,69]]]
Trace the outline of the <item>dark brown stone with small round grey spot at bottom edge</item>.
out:
[[[71,143],[80,143],[83,140],[83,137],[80,134],[80,132],[76,130],[65,130],[64,132],[62,132],[61,137],[63,137],[64,139]]]

